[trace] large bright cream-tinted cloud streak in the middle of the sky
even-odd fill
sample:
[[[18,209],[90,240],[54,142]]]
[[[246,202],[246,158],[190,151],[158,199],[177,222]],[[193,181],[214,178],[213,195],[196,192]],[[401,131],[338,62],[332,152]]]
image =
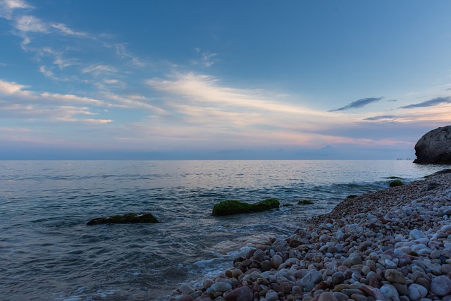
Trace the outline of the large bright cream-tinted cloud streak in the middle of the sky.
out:
[[[186,140],[216,135],[243,143],[266,139],[297,144],[305,142],[306,133],[345,122],[334,114],[287,102],[270,91],[223,86],[211,75],[175,73],[146,84],[166,94],[164,106],[171,123],[165,133],[172,136],[168,132],[176,128],[180,133],[183,128],[191,133]]]

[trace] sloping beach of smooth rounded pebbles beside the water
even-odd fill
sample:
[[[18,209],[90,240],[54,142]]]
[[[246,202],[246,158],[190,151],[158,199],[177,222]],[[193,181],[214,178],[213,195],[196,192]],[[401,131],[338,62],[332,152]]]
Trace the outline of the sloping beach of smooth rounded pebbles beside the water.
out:
[[[170,300],[451,300],[451,173],[347,198]]]

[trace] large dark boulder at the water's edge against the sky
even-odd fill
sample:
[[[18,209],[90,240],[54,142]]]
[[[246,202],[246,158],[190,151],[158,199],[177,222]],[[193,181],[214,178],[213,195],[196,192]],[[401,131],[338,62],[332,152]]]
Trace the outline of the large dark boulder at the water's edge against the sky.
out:
[[[419,164],[451,164],[451,125],[436,128],[423,135],[415,145]]]

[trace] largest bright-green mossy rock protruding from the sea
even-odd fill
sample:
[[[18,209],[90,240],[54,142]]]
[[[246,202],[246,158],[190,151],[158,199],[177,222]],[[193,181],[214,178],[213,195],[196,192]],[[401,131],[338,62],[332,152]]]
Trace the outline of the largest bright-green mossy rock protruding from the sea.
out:
[[[224,216],[232,214],[259,212],[270,210],[273,208],[278,208],[279,206],[280,202],[278,201],[278,199],[275,199],[273,197],[271,199],[265,199],[264,201],[255,204],[249,204],[245,202],[236,201],[234,199],[230,199],[228,201],[219,202],[218,204],[214,205],[211,215]]]

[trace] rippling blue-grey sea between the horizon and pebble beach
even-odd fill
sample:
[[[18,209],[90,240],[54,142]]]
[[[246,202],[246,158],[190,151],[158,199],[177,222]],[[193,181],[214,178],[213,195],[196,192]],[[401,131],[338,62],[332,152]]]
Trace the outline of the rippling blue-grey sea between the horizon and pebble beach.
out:
[[[0,161],[1,300],[167,300],[348,195],[444,166],[411,161]],[[214,217],[217,202],[292,204]],[[311,205],[297,205],[302,199]],[[154,214],[161,223],[86,226]]]

